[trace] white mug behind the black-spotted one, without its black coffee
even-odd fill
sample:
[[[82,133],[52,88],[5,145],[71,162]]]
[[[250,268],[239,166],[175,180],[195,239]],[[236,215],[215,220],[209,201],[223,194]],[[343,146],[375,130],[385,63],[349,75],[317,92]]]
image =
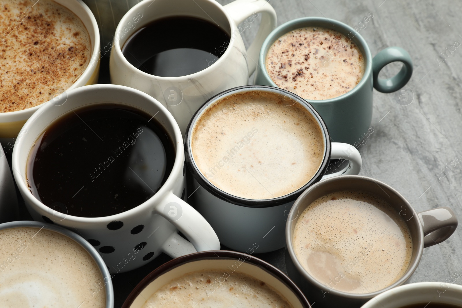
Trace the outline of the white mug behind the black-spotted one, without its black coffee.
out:
[[[240,33],[253,26],[253,14],[256,13],[261,14],[260,28],[246,50]],[[178,15],[206,19],[218,24],[231,36],[226,51],[217,61],[195,74],[159,77],[140,71],[125,59],[121,48],[134,32],[158,18]],[[238,27],[241,23],[243,27]],[[170,111],[184,134],[192,115],[210,97],[248,84],[249,76],[257,65],[261,44],[275,27],[276,13],[266,0],[236,0],[225,6],[215,0],[141,1],[125,14],[117,26],[109,63],[111,82],[156,98]]]

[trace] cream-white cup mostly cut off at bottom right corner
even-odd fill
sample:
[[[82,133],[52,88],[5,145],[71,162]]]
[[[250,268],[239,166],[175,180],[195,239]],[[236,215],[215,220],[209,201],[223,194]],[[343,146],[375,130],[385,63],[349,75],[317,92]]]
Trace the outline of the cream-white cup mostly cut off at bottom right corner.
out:
[[[450,277],[451,280],[454,279],[454,282],[458,278],[460,278],[459,273],[452,274]],[[377,295],[361,308],[405,308],[413,304],[422,304],[421,307],[425,308],[430,302],[434,305],[447,304],[462,307],[462,286],[442,282],[401,285]]]

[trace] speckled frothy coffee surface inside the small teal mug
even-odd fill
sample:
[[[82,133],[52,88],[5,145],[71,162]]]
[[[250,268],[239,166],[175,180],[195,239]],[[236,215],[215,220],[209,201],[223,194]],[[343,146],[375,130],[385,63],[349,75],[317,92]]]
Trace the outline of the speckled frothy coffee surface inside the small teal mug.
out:
[[[305,27],[269,48],[266,70],[274,83],[305,99],[322,100],[351,91],[364,75],[358,46],[338,31]]]

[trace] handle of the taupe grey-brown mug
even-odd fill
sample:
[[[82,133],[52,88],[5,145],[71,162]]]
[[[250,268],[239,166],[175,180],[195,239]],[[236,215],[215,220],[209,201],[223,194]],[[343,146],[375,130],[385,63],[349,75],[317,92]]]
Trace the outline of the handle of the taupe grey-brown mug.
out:
[[[456,214],[445,206],[417,214],[424,231],[424,248],[444,242],[457,228]]]

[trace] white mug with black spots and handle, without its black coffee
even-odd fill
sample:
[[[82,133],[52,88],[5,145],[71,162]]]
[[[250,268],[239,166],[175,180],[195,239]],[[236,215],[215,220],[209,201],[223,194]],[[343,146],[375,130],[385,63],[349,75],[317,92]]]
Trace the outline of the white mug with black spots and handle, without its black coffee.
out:
[[[161,252],[175,258],[196,250],[219,249],[218,237],[210,224],[183,201],[187,194],[182,135],[167,109],[149,95],[120,85],[88,85],[66,94],[67,100],[63,104],[56,106],[47,102],[32,115],[24,125],[27,133],[22,134],[14,146],[14,178],[33,219],[59,224],[79,233],[102,254],[112,273],[143,266]],[[173,169],[150,199],[116,215],[77,217],[67,215],[65,210],[51,209],[29,191],[25,176],[30,149],[43,131],[62,115],[76,108],[102,103],[132,106],[155,116],[176,147]],[[178,229],[191,242],[179,236]]]

